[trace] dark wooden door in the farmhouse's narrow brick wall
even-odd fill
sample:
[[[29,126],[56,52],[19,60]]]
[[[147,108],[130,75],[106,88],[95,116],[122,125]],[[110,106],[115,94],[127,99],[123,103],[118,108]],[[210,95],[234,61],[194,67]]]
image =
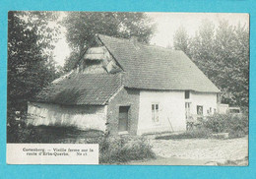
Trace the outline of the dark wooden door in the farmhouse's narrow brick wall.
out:
[[[129,106],[120,106],[119,107],[119,122],[118,122],[118,131],[124,132],[128,131],[128,112]]]

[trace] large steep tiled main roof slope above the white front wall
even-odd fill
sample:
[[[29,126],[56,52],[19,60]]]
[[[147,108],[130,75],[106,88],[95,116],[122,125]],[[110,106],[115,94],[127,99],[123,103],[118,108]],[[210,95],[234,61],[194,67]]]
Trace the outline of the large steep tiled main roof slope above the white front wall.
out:
[[[220,91],[182,51],[101,34],[98,38],[124,69],[127,88]]]

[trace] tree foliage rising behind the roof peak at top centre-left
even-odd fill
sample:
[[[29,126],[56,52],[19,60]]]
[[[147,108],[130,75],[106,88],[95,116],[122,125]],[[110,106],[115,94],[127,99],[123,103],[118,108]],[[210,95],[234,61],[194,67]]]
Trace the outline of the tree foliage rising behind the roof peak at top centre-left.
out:
[[[96,33],[124,38],[137,36],[139,41],[147,43],[155,30],[144,13],[69,12],[62,25],[73,51],[66,60],[66,71],[74,67],[86,47],[96,44]]]

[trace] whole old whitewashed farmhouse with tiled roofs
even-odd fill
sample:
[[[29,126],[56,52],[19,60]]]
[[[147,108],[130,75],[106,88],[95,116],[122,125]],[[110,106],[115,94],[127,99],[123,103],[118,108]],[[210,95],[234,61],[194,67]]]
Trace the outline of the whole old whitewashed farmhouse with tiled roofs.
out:
[[[193,116],[217,110],[219,92],[182,51],[97,34],[77,66],[29,102],[27,123],[111,135],[184,131]]]

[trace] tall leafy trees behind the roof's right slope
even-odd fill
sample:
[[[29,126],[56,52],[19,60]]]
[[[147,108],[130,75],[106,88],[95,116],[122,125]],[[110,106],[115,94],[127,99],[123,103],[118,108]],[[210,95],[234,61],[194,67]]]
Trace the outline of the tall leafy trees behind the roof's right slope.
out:
[[[221,21],[203,21],[194,36],[180,28],[174,48],[183,50],[206,76],[222,89],[222,102],[248,106],[249,29]]]

